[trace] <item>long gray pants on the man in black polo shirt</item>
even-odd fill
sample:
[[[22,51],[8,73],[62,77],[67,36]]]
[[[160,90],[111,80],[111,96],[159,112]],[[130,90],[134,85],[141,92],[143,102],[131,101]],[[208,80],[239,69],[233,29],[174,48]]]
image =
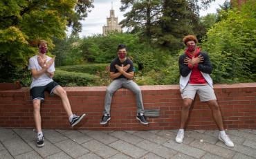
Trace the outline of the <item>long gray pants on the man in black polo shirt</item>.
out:
[[[143,96],[141,94],[138,84],[136,84],[132,80],[120,78],[113,80],[113,82],[111,82],[111,84],[107,87],[103,114],[110,115],[110,106],[113,93],[115,93],[121,87],[131,90],[136,95],[137,113],[144,113]]]

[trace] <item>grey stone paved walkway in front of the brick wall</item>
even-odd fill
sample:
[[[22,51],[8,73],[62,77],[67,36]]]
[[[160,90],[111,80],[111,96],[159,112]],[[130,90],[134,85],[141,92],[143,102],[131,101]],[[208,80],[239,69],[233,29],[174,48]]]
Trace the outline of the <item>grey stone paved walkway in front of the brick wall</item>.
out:
[[[218,131],[185,131],[183,144],[170,131],[44,130],[45,146],[35,146],[32,129],[0,128],[0,158],[256,158],[256,130],[230,130],[226,147]]]

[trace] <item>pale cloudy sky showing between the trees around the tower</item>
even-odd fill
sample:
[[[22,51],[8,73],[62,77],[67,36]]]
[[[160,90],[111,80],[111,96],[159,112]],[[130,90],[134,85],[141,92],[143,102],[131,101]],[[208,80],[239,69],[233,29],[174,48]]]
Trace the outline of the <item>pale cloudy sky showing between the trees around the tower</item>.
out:
[[[120,0],[94,0],[94,8],[91,8],[91,12],[82,23],[82,32],[79,33],[80,37],[88,37],[91,35],[102,34],[102,26],[107,25],[107,17],[111,10],[111,2],[113,2],[113,10],[115,10],[115,17],[118,17],[118,22],[125,19],[123,16],[125,12],[120,12],[121,6]],[[210,3],[210,8],[207,10],[201,10],[200,15],[205,16],[208,13],[217,12],[219,5],[222,5],[225,0],[215,0]],[[68,28],[67,35],[70,35],[71,28]]]

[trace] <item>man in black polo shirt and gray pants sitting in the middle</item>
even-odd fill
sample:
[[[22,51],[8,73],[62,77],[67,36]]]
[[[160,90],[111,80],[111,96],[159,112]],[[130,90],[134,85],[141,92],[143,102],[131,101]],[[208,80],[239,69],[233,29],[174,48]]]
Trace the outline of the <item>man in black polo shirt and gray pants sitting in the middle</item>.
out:
[[[110,106],[113,93],[115,93],[119,88],[124,87],[131,90],[136,95],[137,103],[137,117],[136,119],[140,121],[141,124],[148,124],[145,120],[144,107],[143,107],[143,97],[140,91],[140,87],[132,81],[134,78],[134,64],[130,59],[126,57],[127,49],[123,44],[118,45],[118,57],[113,59],[110,64],[110,77],[113,82],[108,86],[107,93],[105,96],[104,111],[102,116],[102,121],[100,124],[107,124],[110,118]]]

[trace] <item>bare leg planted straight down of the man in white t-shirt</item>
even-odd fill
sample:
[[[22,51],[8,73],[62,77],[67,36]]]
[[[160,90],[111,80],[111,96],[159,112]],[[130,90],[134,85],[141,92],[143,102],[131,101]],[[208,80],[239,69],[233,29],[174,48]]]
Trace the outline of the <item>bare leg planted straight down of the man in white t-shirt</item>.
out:
[[[41,127],[41,115],[40,115],[40,100],[33,100],[33,108],[34,108],[34,120],[35,120],[35,129],[38,132],[42,132]]]

